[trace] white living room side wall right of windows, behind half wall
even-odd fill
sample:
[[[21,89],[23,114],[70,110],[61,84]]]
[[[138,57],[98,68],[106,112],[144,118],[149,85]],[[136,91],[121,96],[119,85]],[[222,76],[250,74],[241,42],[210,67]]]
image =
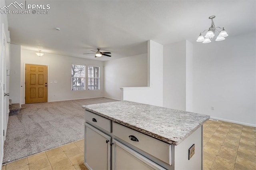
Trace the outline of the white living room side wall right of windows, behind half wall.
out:
[[[147,53],[104,62],[104,96],[121,100],[120,87],[147,86]]]

